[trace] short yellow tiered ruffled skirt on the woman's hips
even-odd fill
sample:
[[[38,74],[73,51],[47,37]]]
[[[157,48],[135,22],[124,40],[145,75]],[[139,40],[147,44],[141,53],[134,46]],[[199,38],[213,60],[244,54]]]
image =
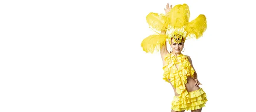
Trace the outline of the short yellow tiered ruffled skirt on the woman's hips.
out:
[[[186,97],[174,96],[172,109],[175,111],[196,110],[204,107],[207,102],[206,93],[202,88],[189,92]]]

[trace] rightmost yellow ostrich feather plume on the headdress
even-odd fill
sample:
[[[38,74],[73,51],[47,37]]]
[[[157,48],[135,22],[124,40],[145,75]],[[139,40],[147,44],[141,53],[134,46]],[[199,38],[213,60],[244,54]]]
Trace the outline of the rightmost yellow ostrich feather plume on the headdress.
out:
[[[197,18],[195,18],[195,20],[192,20],[191,22],[189,22],[188,25],[186,25],[186,35],[190,38],[195,37],[196,39],[198,39],[199,37],[203,36],[206,28],[206,17],[204,14],[200,14]]]

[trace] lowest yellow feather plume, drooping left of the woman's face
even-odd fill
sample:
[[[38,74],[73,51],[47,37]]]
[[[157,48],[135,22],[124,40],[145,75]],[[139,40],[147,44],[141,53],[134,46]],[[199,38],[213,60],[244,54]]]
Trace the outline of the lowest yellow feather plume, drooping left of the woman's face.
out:
[[[163,45],[166,44],[166,35],[150,35],[143,39],[141,42],[141,47],[146,53],[154,53],[162,48]]]

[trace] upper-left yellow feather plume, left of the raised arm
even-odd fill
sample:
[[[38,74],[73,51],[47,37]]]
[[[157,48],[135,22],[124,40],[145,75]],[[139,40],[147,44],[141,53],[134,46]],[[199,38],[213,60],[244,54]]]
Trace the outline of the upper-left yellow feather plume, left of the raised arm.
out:
[[[156,31],[161,31],[167,27],[167,17],[163,14],[149,13],[146,17],[148,25]]]

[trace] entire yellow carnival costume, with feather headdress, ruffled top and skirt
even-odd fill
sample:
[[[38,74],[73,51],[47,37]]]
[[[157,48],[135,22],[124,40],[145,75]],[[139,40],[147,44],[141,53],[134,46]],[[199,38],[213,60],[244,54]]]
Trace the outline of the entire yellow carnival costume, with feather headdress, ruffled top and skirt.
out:
[[[146,17],[148,25],[156,34],[143,39],[141,47],[146,53],[154,53],[166,44],[166,40],[171,44],[174,38],[175,43],[185,42],[186,39],[198,39],[207,28],[206,17],[200,14],[195,20],[189,22],[189,6],[187,4],[174,6],[168,14],[149,13]],[[166,34],[160,34],[161,31]],[[163,66],[163,80],[170,82],[179,96],[174,96],[172,109],[175,111],[195,110],[204,107],[207,102],[206,93],[202,88],[192,92],[187,92],[185,84],[187,77],[194,77],[194,72],[188,57],[180,54],[177,57],[173,53],[165,56],[166,64]],[[177,64],[179,68],[175,66]]]

